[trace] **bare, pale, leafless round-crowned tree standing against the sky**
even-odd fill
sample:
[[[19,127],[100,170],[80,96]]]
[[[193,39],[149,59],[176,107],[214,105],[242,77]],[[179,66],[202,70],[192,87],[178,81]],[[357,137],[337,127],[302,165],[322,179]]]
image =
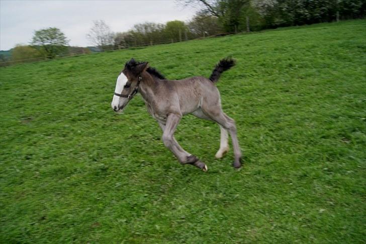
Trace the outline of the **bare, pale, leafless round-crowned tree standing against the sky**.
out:
[[[93,21],[93,23],[93,27],[86,34],[89,42],[101,50],[113,48],[114,33],[111,31],[111,28],[103,20]]]

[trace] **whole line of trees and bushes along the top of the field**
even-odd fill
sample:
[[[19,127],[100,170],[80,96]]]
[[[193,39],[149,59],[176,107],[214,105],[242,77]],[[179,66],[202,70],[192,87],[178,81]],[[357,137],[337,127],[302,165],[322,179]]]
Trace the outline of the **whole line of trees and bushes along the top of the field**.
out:
[[[86,38],[93,47],[70,47],[57,28],[35,31],[30,45],[17,45],[11,60],[52,59],[57,56],[124,49],[191,40],[238,32],[332,22],[365,17],[363,0],[185,0],[178,4],[200,6],[188,22],[145,22],[127,32],[113,33],[103,21],[94,21]],[[0,61],[10,57],[0,54]]]

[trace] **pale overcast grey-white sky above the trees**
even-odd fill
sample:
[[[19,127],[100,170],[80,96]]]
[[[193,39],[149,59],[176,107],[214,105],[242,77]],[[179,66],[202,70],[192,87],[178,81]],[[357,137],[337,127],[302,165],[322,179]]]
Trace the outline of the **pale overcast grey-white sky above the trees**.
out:
[[[0,0],[0,50],[27,45],[34,31],[48,27],[59,28],[70,40],[70,46],[92,46],[85,36],[94,20],[104,20],[113,32],[124,32],[143,22],[188,21],[197,10],[172,0]]]

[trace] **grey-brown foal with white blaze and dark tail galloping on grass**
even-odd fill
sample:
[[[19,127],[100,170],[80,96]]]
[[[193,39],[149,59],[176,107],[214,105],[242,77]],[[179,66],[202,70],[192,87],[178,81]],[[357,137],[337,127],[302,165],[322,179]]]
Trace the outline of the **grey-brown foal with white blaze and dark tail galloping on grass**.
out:
[[[183,115],[193,115],[213,120],[220,126],[220,149],[216,158],[222,158],[229,150],[228,132],[234,149],[234,168],[241,166],[241,152],[236,136],[235,122],[221,108],[220,93],[215,82],[225,70],[235,65],[231,58],[220,60],[209,79],[195,76],[182,80],[167,80],[147,62],[128,61],[117,78],[112,108],[122,112],[133,96],[140,92],[147,111],[153,116],[161,130],[165,147],[181,164],[191,164],[207,172],[207,166],[196,156],[182,149],[174,138],[174,132]]]

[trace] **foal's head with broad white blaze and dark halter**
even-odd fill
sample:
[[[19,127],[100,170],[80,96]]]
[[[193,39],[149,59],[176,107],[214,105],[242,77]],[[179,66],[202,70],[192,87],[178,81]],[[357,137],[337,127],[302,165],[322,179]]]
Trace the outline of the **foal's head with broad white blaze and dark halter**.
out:
[[[147,68],[147,62],[128,61],[117,77],[115,95],[112,100],[112,108],[116,112],[122,112],[127,103],[136,94],[141,80],[141,74]]]

